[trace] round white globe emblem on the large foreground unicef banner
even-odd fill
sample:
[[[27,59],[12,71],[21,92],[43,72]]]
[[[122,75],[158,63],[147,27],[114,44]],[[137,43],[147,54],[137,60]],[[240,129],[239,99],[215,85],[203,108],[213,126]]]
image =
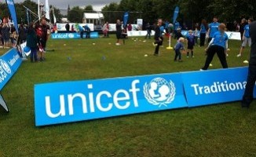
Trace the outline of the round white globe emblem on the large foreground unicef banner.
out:
[[[149,84],[144,84],[144,97],[150,104],[167,106],[170,104],[175,97],[175,86],[174,82],[167,82],[163,78],[152,79]]]

